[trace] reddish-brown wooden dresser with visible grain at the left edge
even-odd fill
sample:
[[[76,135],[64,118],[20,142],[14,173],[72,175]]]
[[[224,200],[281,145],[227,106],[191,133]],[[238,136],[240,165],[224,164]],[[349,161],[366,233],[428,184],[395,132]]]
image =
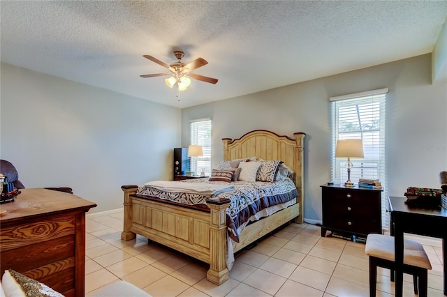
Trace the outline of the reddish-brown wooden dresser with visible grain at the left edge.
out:
[[[13,269],[64,296],[85,296],[85,213],[95,206],[43,188],[0,204],[1,275]]]

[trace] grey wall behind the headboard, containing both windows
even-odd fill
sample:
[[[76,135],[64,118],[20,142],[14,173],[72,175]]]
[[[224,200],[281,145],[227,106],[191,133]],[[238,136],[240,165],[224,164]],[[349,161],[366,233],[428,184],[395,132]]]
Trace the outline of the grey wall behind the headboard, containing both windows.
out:
[[[439,188],[447,170],[447,83],[431,81],[431,55],[386,63],[182,109],[182,146],[189,121],[212,118],[212,165],[223,159],[222,138],[256,129],[305,132],[305,218],[321,220],[321,188],[330,180],[329,97],[388,87],[388,194],[409,186]]]

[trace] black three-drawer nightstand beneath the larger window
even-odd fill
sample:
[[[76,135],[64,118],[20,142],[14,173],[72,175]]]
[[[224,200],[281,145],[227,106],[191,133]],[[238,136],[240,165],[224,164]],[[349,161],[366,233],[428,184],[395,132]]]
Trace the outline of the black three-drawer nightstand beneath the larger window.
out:
[[[366,239],[370,233],[382,233],[381,191],[358,188],[354,185],[321,185],[323,225],[326,231],[341,236]]]

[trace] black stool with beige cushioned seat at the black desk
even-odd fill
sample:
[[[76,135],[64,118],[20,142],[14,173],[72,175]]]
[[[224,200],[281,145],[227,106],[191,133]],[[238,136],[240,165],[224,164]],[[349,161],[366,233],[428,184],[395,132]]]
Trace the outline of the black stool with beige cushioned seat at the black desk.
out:
[[[365,254],[369,256],[369,296],[376,296],[377,266],[391,271],[395,280],[394,237],[369,234],[366,238]],[[413,275],[414,294],[427,297],[427,270],[432,269],[423,246],[416,241],[404,239],[404,273]]]

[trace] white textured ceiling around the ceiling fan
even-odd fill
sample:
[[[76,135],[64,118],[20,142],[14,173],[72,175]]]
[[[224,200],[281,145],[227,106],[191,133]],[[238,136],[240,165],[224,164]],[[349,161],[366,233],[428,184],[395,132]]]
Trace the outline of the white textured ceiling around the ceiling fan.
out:
[[[0,1],[1,61],[189,107],[430,53],[447,1]],[[144,59],[202,57],[175,98]]]

